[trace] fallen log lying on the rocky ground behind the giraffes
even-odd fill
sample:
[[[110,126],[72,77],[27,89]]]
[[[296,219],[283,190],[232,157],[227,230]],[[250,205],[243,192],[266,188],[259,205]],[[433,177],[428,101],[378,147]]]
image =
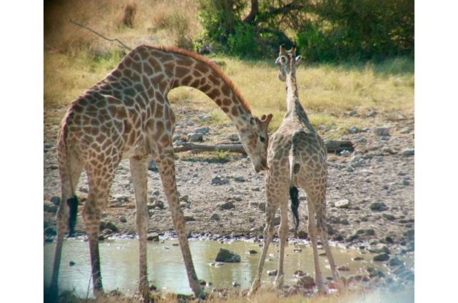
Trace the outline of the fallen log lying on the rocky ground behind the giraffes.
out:
[[[330,140],[325,142],[327,153],[340,153],[342,150],[348,150],[352,152],[355,150],[352,141],[337,141]],[[227,151],[228,153],[241,153],[246,155],[245,149],[241,144],[218,144],[218,145],[202,145],[195,143],[181,143],[179,146],[175,146],[173,151],[175,153],[183,153],[188,150],[193,150],[196,153],[202,153],[205,151]]]

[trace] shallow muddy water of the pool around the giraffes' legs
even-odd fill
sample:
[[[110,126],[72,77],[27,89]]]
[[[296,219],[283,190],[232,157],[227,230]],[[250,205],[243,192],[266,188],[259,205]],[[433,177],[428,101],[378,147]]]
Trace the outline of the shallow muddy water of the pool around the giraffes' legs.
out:
[[[216,241],[190,240],[190,250],[193,254],[195,270],[199,279],[212,282],[213,287],[230,287],[238,282],[241,287],[250,287],[258,267],[262,247],[259,243],[235,241],[220,243]],[[163,292],[191,294],[188,279],[183,265],[178,240],[165,242],[148,242],[148,279]],[[44,282],[45,287],[51,281],[52,262],[54,258],[54,243],[44,245]],[[241,256],[240,263],[226,263],[222,266],[211,266],[218,250],[226,248],[237,252]],[[294,249],[300,248],[301,252]],[[258,254],[248,255],[248,250],[256,250]],[[324,250],[320,250],[324,252]],[[350,268],[342,275],[352,275],[363,272],[366,266],[377,267],[373,264],[372,255],[361,255],[356,250],[345,250],[332,247],[332,253],[338,266]],[[138,281],[138,240],[105,240],[100,242],[101,269],[103,287],[106,291],[119,289],[124,294],[133,294]],[[293,284],[293,273],[301,269],[313,276],[312,249],[305,245],[288,245],[285,249],[285,283]],[[365,260],[352,261],[354,257],[363,257]],[[75,265],[70,266],[69,262]],[[326,257],[320,257],[321,268],[325,277],[331,276]],[[273,244],[269,248],[265,270],[277,269],[278,246]],[[83,240],[67,240],[63,245],[59,289],[74,289],[78,297],[92,294],[91,265],[89,261],[88,242]],[[263,275],[263,283],[271,283],[275,277]],[[88,289],[89,287],[89,289]]]

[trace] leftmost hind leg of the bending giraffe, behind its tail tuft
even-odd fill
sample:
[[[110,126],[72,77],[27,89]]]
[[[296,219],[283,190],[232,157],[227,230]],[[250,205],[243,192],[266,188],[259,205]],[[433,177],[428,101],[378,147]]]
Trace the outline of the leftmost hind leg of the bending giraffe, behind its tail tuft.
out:
[[[49,289],[50,299],[56,299],[58,295],[58,273],[61,265],[61,255],[63,247],[63,237],[68,232],[68,220],[70,218],[70,207],[68,200],[75,197],[75,187],[78,184],[83,164],[76,158],[71,151],[66,153],[65,149],[58,143],[58,171],[61,179],[61,203],[56,215],[57,237],[56,249],[54,252],[53,274],[51,277],[51,287]],[[69,159],[67,160],[67,157]],[[77,205],[72,205],[76,207]],[[73,212],[76,212],[73,209]],[[76,215],[76,214],[74,214]],[[54,298],[54,299],[53,299]]]

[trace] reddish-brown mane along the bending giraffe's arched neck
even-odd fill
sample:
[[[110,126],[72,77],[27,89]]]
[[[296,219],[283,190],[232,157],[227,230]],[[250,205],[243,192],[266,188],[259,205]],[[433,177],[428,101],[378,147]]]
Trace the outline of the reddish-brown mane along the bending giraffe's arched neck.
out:
[[[229,86],[230,90],[235,93],[235,96],[240,100],[240,103],[242,103],[242,106],[245,108],[248,113],[251,113],[251,108],[248,102],[245,100],[245,98],[242,96],[242,93],[238,90],[238,88],[235,87],[233,81],[230,80],[228,76],[225,75],[223,71],[221,71],[221,68],[219,68],[213,61],[208,60],[207,58],[204,58],[203,56],[198,55],[197,53],[194,53],[193,51],[187,51],[183,48],[178,48],[175,46],[153,46],[153,45],[146,45],[151,48],[156,48],[161,51],[166,51],[170,53],[178,53],[178,55],[183,55],[183,56],[188,56],[191,58],[194,58],[197,61],[200,61],[207,66],[210,66],[213,71],[221,78],[223,79],[224,83],[226,83],[227,86]]]

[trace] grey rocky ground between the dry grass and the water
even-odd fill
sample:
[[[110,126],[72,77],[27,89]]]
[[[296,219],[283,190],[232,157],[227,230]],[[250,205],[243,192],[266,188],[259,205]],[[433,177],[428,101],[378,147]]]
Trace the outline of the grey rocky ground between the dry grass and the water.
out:
[[[63,113],[65,108],[55,108]],[[175,140],[200,140],[203,144],[237,140],[230,125],[209,125],[205,113],[175,108]],[[328,155],[327,221],[330,239],[347,246],[396,247],[414,250],[414,120],[398,113],[357,113],[370,128],[345,130],[340,140],[355,143],[353,153]],[[390,128],[384,128],[390,125]],[[44,232],[56,232],[60,187],[56,165],[58,126],[44,128]],[[323,138],[339,128],[319,127]],[[177,155],[180,201],[189,232],[198,235],[258,237],[265,222],[263,173],[255,174],[250,160],[241,155],[203,157],[192,152]],[[88,194],[85,173],[77,186],[84,204]],[[172,232],[173,225],[157,170],[148,172],[150,232]],[[305,192],[300,192],[301,237],[306,237]],[[83,207],[80,207],[81,210]],[[103,213],[103,233],[135,235],[135,202],[128,160],[118,167],[111,197]],[[290,222],[292,222],[291,214]],[[81,215],[76,231],[84,233]],[[280,221],[278,221],[280,222]],[[290,224],[292,225],[292,224]],[[217,237],[217,236],[215,236]],[[292,237],[292,233],[290,233]]]

